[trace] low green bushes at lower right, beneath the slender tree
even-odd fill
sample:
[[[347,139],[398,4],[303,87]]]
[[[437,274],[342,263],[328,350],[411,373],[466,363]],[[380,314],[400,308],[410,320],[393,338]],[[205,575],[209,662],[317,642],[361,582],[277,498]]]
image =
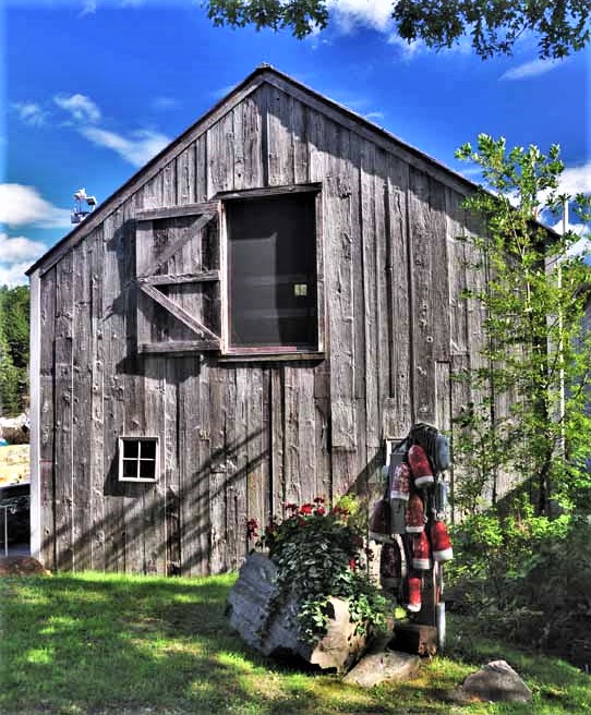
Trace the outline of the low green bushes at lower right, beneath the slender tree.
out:
[[[462,609],[481,632],[589,663],[591,523],[583,517],[477,514],[454,530],[450,582],[462,584]]]

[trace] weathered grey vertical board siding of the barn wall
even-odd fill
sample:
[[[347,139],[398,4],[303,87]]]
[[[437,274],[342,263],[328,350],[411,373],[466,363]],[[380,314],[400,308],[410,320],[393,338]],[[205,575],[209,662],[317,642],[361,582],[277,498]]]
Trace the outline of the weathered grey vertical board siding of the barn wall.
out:
[[[40,507],[51,568],[236,569],[246,518],[365,489],[385,437],[415,421],[449,428],[470,399],[454,375],[477,359],[481,316],[460,300],[475,278],[458,182],[286,83],[244,95],[196,125],[41,277]],[[323,186],[326,359],[138,355],[142,315],[160,339],[180,328],[156,304],[137,311],[136,265],[154,256],[143,254],[136,213],[306,182]],[[189,242],[174,269],[202,265],[200,251]],[[122,434],[160,437],[158,483],[118,482]]]

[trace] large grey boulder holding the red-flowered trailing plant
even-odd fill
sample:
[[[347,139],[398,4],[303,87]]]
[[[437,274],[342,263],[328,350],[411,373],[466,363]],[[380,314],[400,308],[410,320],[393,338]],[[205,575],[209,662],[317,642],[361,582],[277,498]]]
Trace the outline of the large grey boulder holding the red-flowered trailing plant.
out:
[[[347,602],[330,598],[334,616],[326,635],[311,645],[300,639],[298,603],[293,598],[274,604],[277,567],[264,554],[252,553],[228,596],[230,626],[263,655],[292,654],[321,668],[347,670],[365,647],[349,619]]]

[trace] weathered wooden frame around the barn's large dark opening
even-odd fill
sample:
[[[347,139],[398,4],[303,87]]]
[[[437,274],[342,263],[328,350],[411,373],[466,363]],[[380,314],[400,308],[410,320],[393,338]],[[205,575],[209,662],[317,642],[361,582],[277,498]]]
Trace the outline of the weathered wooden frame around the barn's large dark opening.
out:
[[[315,223],[315,254],[316,254],[316,347],[302,347],[302,349],[282,348],[280,346],[240,347],[230,342],[230,266],[227,204],[232,201],[280,198],[294,194],[315,194],[314,223]],[[244,191],[220,192],[216,198],[220,201],[220,280],[221,280],[221,360],[317,360],[324,358],[325,350],[325,277],[324,277],[324,241],[323,241],[323,185],[322,183],[289,184],[281,186],[267,186]]]

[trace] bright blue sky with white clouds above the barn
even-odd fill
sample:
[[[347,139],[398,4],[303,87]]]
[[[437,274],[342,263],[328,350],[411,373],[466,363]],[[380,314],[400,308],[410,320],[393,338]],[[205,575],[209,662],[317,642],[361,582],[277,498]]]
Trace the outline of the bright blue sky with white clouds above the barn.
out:
[[[195,0],[0,0],[0,284],[72,228],[73,193],[104,201],[261,62],[471,177],[479,133],[563,149],[565,189],[591,192],[591,51],[536,59],[526,37],[483,62],[468,43],[399,41],[390,2],[330,0],[328,29],[213,27]]]

